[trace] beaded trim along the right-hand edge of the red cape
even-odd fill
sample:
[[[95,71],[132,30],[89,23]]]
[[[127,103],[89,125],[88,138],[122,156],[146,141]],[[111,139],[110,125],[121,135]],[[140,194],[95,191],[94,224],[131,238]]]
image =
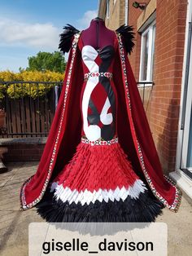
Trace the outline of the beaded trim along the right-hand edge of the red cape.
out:
[[[121,61],[121,66],[123,68],[123,74],[122,74],[123,77],[122,78],[124,80],[125,93],[126,93],[126,96],[128,98],[129,109],[131,110],[131,102],[130,102],[130,97],[129,97],[129,83],[128,83],[128,80],[127,80],[127,71],[126,71],[126,65],[125,65],[124,45],[122,43],[120,33],[116,33],[116,36],[117,36],[117,39],[118,39],[118,42],[119,42],[120,61]],[[133,121],[133,117],[132,117],[132,112],[131,111],[129,112],[129,117]],[[142,166],[143,173],[144,173],[144,175],[146,177],[146,181],[147,181],[147,183],[149,184],[149,186],[151,188],[151,191],[154,193],[155,197],[159,199],[159,201],[161,201],[164,205],[166,205],[168,207],[169,210],[177,212],[177,210],[179,209],[179,206],[181,204],[182,192],[181,192],[180,188],[177,187],[177,184],[174,183],[172,181],[172,179],[170,179],[167,175],[164,174],[164,178],[168,181],[168,183],[172,184],[172,186],[176,189],[175,199],[174,199],[172,205],[169,205],[168,201],[166,201],[164,199],[164,197],[161,196],[159,194],[159,192],[157,192],[157,190],[155,189],[154,184],[151,181],[151,178],[150,178],[148,172],[146,171],[146,167],[145,167],[145,164],[144,164],[144,161],[143,161],[143,157],[142,157],[142,150],[141,150],[140,144],[138,143],[137,135],[136,135],[134,129],[133,129],[133,136],[134,136],[134,139],[135,139],[135,141],[137,143],[137,147],[136,147],[137,148],[137,155],[138,155],[140,164]]]

